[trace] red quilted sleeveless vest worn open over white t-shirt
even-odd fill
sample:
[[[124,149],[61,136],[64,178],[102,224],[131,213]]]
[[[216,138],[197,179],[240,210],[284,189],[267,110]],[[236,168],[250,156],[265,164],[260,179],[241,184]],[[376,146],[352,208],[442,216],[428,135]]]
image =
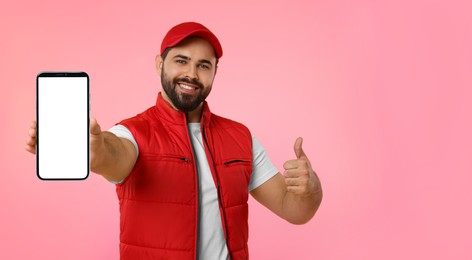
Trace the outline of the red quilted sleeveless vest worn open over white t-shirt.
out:
[[[196,259],[198,176],[185,113],[159,93],[155,106],[120,124],[139,146],[131,174],[116,186],[121,259]],[[200,125],[230,257],[248,259],[251,134],[212,114],[206,102]]]

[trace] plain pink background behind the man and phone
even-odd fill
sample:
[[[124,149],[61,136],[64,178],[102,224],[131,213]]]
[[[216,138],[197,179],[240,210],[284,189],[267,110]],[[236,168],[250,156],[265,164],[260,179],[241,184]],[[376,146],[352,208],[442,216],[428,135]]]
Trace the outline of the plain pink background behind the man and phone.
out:
[[[2,3],[0,259],[118,258],[114,185],[36,177],[24,150],[35,76],[88,72],[108,128],[154,103],[160,41],[188,20],[225,51],[212,110],[249,126],[280,169],[303,136],[323,182],[303,226],[251,199],[252,259],[472,259],[471,10],[467,0]]]

